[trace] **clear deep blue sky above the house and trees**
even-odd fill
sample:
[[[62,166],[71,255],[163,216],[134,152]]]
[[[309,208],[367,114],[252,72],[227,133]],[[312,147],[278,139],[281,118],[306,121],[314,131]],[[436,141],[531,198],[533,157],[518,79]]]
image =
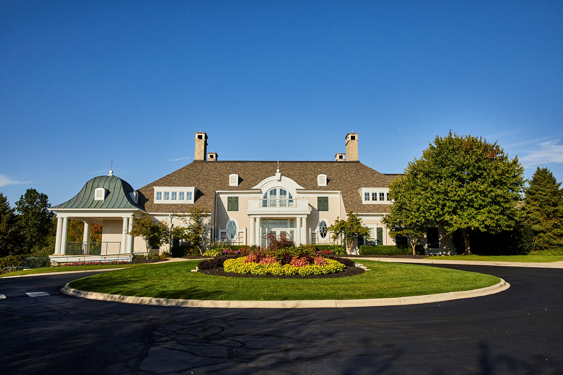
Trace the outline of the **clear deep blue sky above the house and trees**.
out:
[[[563,2],[0,3],[0,190],[55,205],[191,162],[359,159],[449,129],[563,179]],[[273,172],[273,171],[272,171]]]

